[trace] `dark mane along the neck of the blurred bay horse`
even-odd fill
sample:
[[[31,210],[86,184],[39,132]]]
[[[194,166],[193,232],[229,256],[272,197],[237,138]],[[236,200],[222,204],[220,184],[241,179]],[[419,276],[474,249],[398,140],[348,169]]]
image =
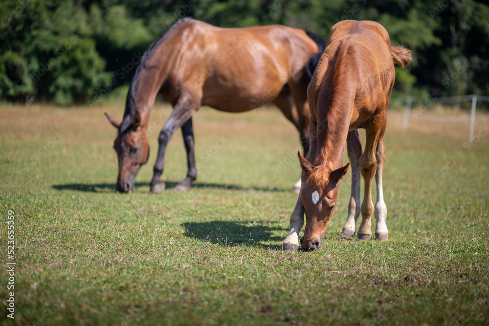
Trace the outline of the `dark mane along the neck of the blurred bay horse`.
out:
[[[136,72],[134,73],[133,80],[131,81],[129,91],[127,93],[126,109],[124,110],[124,117],[123,117],[122,123],[119,127],[119,132],[124,132],[131,126],[131,120],[133,120],[133,116],[135,113],[134,101],[135,101],[135,96],[136,96],[137,85],[139,84],[139,78],[141,77],[141,72],[143,71],[144,68],[146,68],[146,62],[148,61],[148,59],[153,54],[153,51],[158,47],[158,45],[164,40],[164,38],[172,31],[172,29],[175,26],[177,26],[181,22],[186,22],[190,19],[191,19],[190,17],[186,17],[186,18],[180,19],[178,22],[173,24],[173,26],[170,27],[159,39],[157,39],[155,42],[151,43],[148,46],[148,49],[146,50],[146,52],[144,52],[144,54],[141,58],[141,62],[139,63],[139,65],[136,68]]]

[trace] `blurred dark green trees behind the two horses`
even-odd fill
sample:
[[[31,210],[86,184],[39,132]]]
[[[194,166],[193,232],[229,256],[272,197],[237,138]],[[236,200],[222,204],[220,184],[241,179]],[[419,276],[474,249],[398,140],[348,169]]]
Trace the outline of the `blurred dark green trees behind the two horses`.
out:
[[[2,0],[0,99],[96,103],[127,85],[147,46],[184,17],[324,38],[341,20],[376,21],[413,51],[413,64],[396,68],[395,96],[489,95],[487,1]]]

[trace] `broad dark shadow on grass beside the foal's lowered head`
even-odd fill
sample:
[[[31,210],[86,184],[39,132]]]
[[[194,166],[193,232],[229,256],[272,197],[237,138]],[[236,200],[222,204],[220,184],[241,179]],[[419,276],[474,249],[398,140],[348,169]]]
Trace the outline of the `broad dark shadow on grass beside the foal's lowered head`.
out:
[[[281,250],[282,243],[277,245],[270,242],[283,240],[282,237],[274,235],[275,231],[287,232],[279,227],[278,223],[267,221],[186,222],[180,226],[185,228],[185,236],[190,239],[199,239],[224,247],[263,246],[275,250]]]

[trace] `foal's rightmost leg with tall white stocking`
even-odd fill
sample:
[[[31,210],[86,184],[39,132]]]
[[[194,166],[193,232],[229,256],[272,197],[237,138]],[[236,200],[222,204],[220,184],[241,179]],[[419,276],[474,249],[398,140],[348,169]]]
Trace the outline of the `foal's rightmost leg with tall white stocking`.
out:
[[[382,134],[377,144],[376,151],[377,158],[377,171],[375,173],[375,181],[377,184],[377,202],[375,204],[375,218],[377,220],[377,225],[375,227],[375,239],[387,240],[389,239],[389,231],[387,230],[387,225],[385,219],[387,218],[387,207],[384,202],[384,196],[382,191],[382,170],[385,163],[385,146],[382,140]]]

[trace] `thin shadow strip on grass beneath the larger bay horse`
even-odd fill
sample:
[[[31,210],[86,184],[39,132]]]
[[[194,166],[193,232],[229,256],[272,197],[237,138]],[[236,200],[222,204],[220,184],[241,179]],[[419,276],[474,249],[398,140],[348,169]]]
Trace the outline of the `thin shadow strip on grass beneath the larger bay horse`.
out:
[[[173,189],[178,185],[178,182],[165,181],[166,190],[173,191]],[[53,189],[56,190],[75,190],[84,193],[108,193],[111,191],[115,192],[115,183],[70,183],[70,184],[59,184],[52,185]],[[148,182],[136,182],[134,184],[134,190],[139,190],[139,188],[145,188],[149,191]],[[256,186],[240,186],[234,184],[222,184],[222,183],[207,183],[207,182],[195,182],[192,184],[192,189],[224,189],[224,190],[255,190],[255,191],[267,191],[267,192],[289,192],[291,189],[277,188],[277,187],[256,187]],[[164,194],[164,192],[162,193]]]

